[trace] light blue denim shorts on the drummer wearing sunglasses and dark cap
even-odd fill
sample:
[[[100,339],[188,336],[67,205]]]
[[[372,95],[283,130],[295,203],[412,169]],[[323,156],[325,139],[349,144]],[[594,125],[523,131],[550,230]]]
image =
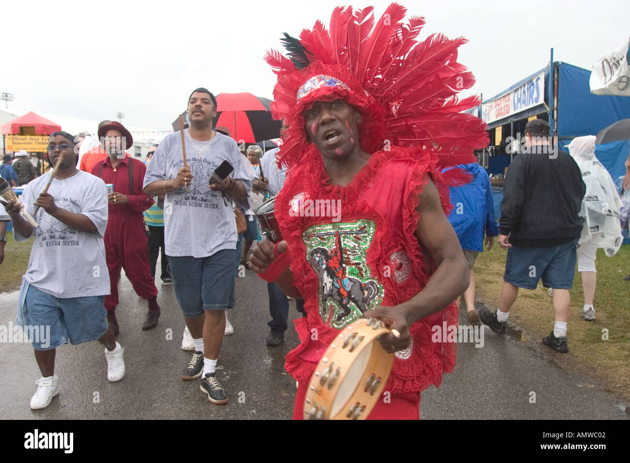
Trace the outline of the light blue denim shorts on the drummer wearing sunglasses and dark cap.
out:
[[[50,350],[68,342],[87,343],[107,332],[105,296],[59,298],[22,279],[15,324],[29,334],[35,350]],[[26,339],[26,336],[25,336]]]

